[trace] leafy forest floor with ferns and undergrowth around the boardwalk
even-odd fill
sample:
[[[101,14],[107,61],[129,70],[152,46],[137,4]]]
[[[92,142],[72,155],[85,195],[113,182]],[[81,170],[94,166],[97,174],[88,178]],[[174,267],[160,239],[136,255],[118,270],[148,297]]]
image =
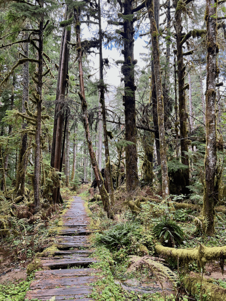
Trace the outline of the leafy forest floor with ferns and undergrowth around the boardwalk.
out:
[[[64,262],[61,273],[67,268],[71,270],[69,273],[75,273],[75,275],[71,275],[70,277],[77,277],[79,274],[79,272],[75,271],[78,264],[80,264],[79,268],[91,268],[98,271],[98,273],[94,272],[96,282],[91,286],[90,284],[88,285],[89,298],[92,299],[98,299],[99,301],[164,301],[165,298],[167,301],[172,301],[174,298],[173,296],[175,296],[175,282],[166,276],[159,277],[158,275],[155,275],[155,273],[151,272],[147,266],[145,267],[145,264],[143,264],[144,262],[140,265],[140,259],[144,260],[148,257],[152,258],[154,261],[163,263],[164,266],[170,268],[171,271],[175,273],[176,277],[180,279],[177,283],[177,291],[179,291],[181,295],[180,300],[199,301],[200,296],[193,295],[192,297],[189,297],[183,285],[183,277],[185,275],[190,274],[190,277],[196,277],[199,274],[196,262],[190,263],[189,268],[185,269],[183,266],[180,266],[180,264],[178,265],[178,262],[173,262],[169,258],[156,257],[154,245],[156,241],[158,242],[158,239],[156,239],[153,234],[152,227],[161,220],[161,215],[164,214],[165,205],[163,203],[158,203],[156,205],[153,203],[154,207],[152,206],[150,209],[150,207],[145,207],[148,204],[146,202],[144,209],[149,210],[149,218],[148,220],[145,220],[145,216],[142,216],[142,211],[141,214],[134,215],[131,214],[131,210],[128,206],[124,205],[126,196],[124,189],[121,188],[121,190],[117,191],[115,194],[115,217],[114,219],[107,219],[98,194],[94,194],[95,191],[89,190],[89,187],[90,185],[81,185],[77,191],[77,195],[80,196],[80,199],[85,201],[84,206],[86,213],[84,215],[83,212],[80,221],[84,220],[86,223],[83,226],[86,228],[86,234],[89,234],[89,236],[85,237],[84,233],[82,233],[84,231],[82,231],[79,234],[81,235],[80,240],[75,241],[78,239],[76,233],[73,234],[72,231],[71,234],[68,234],[68,230],[63,231],[65,228],[63,224],[66,222],[65,225],[67,226],[67,229],[73,229],[74,227],[75,232],[77,232],[77,234],[79,232],[79,229],[76,228],[77,226],[72,225],[73,219],[71,216],[67,215],[68,208],[73,206],[71,204],[73,204],[72,194],[74,192],[66,189],[64,191],[64,198],[67,200],[67,203],[64,206],[56,208],[57,210],[47,219],[47,224],[44,221],[38,221],[41,225],[40,231],[35,232],[38,234],[36,235],[38,238],[33,234],[33,228],[31,229],[29,228],[30,226],[27,225],[27,231],[21,230],[21,235],[15,235],[13,236],[13,239],[11,235],[1,241],[0,300],[22,301],[24,300],[29,287],[31,287],[31,290],[34,290],[35,288],[45,290],[44,286],[40,286],[40,280],[41,282],[44,280],[47,281],[46,287],[53,289],[52,284],[49,286],[48,279],[45,279],[46,276],[44,277],[44,274],[39,274],[42,272],[34,273],[33,271],[29,271],[27,274],[27,268],[29,270],[29,266],[31,266],[29,264],[31,263],[31,260],[34,259],[33,263],[36,260],[41,260],[46,264],[46,266],[44,266],[46,272],[48,272],[48,268],[58,268],[59,271],[60,266],[57,266],[59,265],[59,261],[60,265]],[[149,189],[143,189],[142,193],[138,191],[137,194],[141,196],[143,194],[147,197]],[[136,197],[134,197],[134,199]],[[153,200],[152,195],[150,195],[149,198]],[[75,210],[75,213],[77,209],[74,208],[73,210]],[[196,247],[198,244],[204,244],[208,247],[225,246],[226,229],[225,216],[223,214],[217,215],[217,230],[215,236],[208,237],[205,234],[200,233],[200,229],[199,231],[197,230],[194,222],[188,218],[188,213],[191,214],[190,211],[185,209],[173,212],[172,219],[180,225],[186,234],[182,245],[175,245],[174,247]],[[192,215],[195,214],[195,212],[192,212]],[[63,216],[65,216],[65,218],[63,218]],[[74,216],[76,216],[76,214]],[[79,218],[79,216],[77,216],[77,218]],[[26,232],[26,235],[24,231]],[[23,247],[23,244],[25,244],[24,238],[26,238],[25,240],[28,246],[26,254],[24,253],[25,247]],[[32,240],[33,244],[31,244]],[[62,247],[63,244],[64,247]],[[80,246],[78,244],[80,244]],[[164,241],[162,241],[162,244],[164,244]],[[49,249],[49,253],[45,253],[45,248],[48,247],[53,249]],[[74,253],[74,255],[69,254],[78,249],[81,249],[79,251],[82,252],[81,254],[79,254],[78,251],[78,253]],[[37,253],[38,250],[39,252]],[[65,250],[64,254],[59,253],[62,250]],[[90,253],[86,250],[90,250]],[[40,253],[41,251],[44,252]],[[56,253],[54,254],[53,251]],[[67,252],[68,254],[66,254]],[[87,252],[87,254],[84,252]],[[54,259],[54,255],[56,260]],[[75,260],[73,256],[77,259],[79,258],[80,262],[81,259],[83,259],[83,262],[74,262],[77,259]],[[85,258],[82,258],[83,256]],[[90,258],[90,256],[93,259]],[[68,262],[68,260],[74,261]],[[54,265],[53,262],[55,262]],[[33,267],[33,270],[43,270],[43,267],[41,268],[39,263],[37,266]],[[48,265],[50,265],[50,267],[48,267]],[[224,271],[225,270],[226,269],[224,268]],[[66,274],[68,274],[67,271]],[[68,275],[66,277],[68,277]],[[91,274],[85,271],[83,277],[91,277]],[[56,278],[56,276],[53,278]],[[222,276],[219,262],[215,261],[208,263],[205,267],[203,278],[209,279],[219,287],[226,288],[225,274]],[[34,281],[36,281],[37,285],[32,284]],[[79,281],[82,281],[82,284],[77,282],[80,287],[83,287],[86,283],[84,282],[85,278],[80,278]],[[90,279],[89,281],[87,280],[87,282],[90,282]],[[68,282],[65,286],[68,286]],[[55,285],[55,287],[58,286]],[[80,293],[82,294],[84,292]],[[27,295],[27,297],[29,296]],[[51,299],[50,296],[43,297],[44,299],[42,300]],[[35,298],[37,298],[37,296],[35,296]],[[57,299],[58,298],[55,300]],[[51,301],[52,300],[53,299],[51,299]]]

